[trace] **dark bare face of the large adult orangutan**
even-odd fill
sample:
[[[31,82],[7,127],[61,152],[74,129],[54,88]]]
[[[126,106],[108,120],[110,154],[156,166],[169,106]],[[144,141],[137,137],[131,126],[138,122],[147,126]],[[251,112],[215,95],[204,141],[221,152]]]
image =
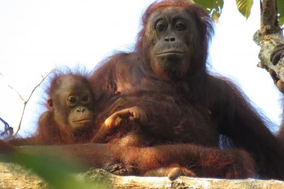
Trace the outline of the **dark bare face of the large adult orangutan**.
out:
[[[193,16],[183,8],[158,10],[150,16],[145,33],[155,74],[162,79],[183,78],[202,41]]]

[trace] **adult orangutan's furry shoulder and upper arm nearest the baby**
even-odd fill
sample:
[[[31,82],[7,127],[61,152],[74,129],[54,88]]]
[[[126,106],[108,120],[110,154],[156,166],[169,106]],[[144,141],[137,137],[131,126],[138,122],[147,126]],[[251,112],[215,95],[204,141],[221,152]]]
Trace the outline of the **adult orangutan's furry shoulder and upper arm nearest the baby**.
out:
[[[100,107],[98,111],[105,110],[105,104],[125,89],[132,87],[136,79],[141,78],[135,65],[137,58],[133,53],[117,53],[102,61],[95,68],[90,77],[90,85],[95,95],[95,101]]]

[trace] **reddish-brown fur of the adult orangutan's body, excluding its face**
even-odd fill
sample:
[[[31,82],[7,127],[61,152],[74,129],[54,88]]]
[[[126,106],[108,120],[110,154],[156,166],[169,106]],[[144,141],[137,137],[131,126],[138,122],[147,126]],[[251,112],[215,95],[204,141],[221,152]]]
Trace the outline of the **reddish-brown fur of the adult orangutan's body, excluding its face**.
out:
[[[163,80],[150,66],[149,49],[155,41],[147,38],[145,27],[149,16],[164,7],[190,12],[201,39],[190,72],[178,80]],[[155,2],[142,16],[135,51],[113,55],[96,69],[90,83],[101,110],[118,92],[128,96],[129,90],[136,91],[137,98],[127,99],[122,108],[138,106],[148,119],[138,127],[124,123],[141,131],[126,138],[126,144],[134,143],[116,148],[114,153],[119,161],[143,171],[178,163],[201,177],[246,178],[255,173],[261,178],[284,179],[284,147],[270,132],[269,121],[234,83],[206,70],[212,33],[210,18],[198,5],[182,0]],[[220,149],[220,135],[225,136],[221,143],[234,149]],[[171,145],[153,146],[157,144]],[[140,147],[148,145],[152,147]]]

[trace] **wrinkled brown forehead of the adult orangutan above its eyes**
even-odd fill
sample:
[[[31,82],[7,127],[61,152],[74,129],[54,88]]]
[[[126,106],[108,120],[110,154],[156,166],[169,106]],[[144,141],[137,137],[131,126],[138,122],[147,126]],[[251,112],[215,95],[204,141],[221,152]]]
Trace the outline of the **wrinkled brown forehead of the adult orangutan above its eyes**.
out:
[[[166,19],[166,20],[173,20],[173,19],[185,19],[185,20],[192,20],[193,15],[186,11],[183,7],[164,7],[155,10],[148,18],[148,24],[154,23],[157,20]]]

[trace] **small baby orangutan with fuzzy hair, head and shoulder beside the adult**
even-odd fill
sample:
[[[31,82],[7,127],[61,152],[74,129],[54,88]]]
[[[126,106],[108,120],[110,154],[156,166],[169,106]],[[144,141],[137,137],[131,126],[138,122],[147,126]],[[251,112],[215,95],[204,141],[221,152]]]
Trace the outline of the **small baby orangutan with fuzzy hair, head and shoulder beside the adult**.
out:
[[[57,74],[47,89],[48,111],[38,120],[36,144],[89,142],[94,129],[94,100],[88,79],[80,74]]]

